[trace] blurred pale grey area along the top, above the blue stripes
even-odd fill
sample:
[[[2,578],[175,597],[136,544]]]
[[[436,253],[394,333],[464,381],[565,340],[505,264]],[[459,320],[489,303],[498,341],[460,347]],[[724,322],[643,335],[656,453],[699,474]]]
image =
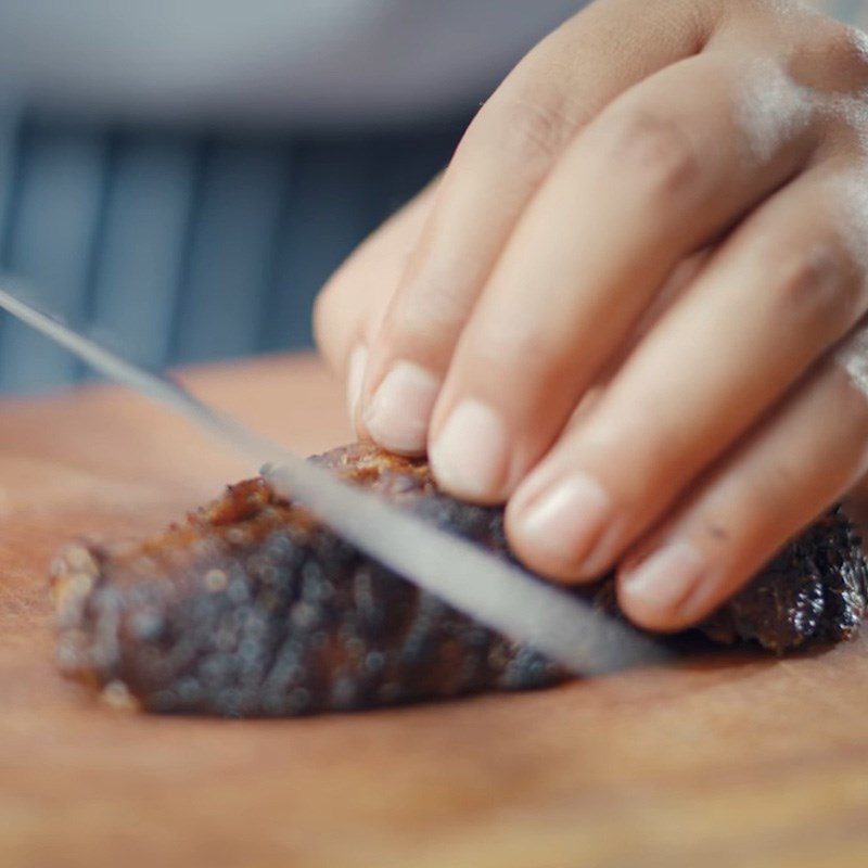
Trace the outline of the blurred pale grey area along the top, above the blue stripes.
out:
[[[2,0],[0,91],[75,118],[437,120],[582,0]]]

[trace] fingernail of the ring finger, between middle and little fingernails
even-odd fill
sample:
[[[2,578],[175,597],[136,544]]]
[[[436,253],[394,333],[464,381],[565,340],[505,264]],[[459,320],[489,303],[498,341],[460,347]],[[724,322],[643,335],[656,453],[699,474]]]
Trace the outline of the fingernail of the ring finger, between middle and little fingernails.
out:
[[[578,564],[600,537],[612,513],[602,486],[580,473],[556,483],[525,508],[516,532],[541,557]]]

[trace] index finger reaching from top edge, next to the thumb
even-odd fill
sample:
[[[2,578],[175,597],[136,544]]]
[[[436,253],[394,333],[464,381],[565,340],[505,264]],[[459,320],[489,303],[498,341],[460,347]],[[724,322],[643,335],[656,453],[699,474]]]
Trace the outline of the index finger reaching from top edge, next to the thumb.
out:
[[[583,125],[699,50],[709,26],[692,5],[596,3],[532,51],[478,112],[371,348],[366,423],[383,446],[424,450],[461,327],[519,215]]]

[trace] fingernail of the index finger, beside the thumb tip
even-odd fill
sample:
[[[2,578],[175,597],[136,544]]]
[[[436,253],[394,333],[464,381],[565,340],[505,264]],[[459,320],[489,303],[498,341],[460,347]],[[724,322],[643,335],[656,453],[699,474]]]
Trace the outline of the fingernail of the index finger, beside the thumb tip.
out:
[[[397,361],[365,409],[376,443],[393,452],[424,452],[438,380],[411,361]]]

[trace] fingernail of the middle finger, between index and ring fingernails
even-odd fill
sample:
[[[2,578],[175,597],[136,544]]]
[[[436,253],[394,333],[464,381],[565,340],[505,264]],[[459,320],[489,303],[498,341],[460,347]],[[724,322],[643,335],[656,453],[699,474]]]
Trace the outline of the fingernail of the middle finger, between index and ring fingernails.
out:
[[[507,430],[488,405],[465,398],[431,447],[437,482],[468,500],[497,497],[507,475]]]

